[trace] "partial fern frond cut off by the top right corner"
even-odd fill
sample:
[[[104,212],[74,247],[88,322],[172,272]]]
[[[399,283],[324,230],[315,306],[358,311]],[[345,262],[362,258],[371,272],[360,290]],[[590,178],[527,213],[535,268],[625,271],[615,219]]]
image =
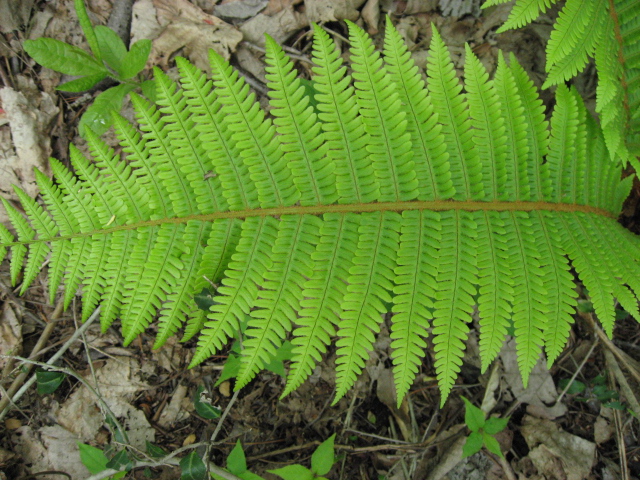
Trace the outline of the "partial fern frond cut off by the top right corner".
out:
[[[557,0],[516,0],[504,32],[535,20]],[[503,3],[488,0],[483,8]],[[543,88],[561,85],[590,58],[598,72],[596,111],[611,158],[640,155],[640,0],[567,0],[547,43]]]

